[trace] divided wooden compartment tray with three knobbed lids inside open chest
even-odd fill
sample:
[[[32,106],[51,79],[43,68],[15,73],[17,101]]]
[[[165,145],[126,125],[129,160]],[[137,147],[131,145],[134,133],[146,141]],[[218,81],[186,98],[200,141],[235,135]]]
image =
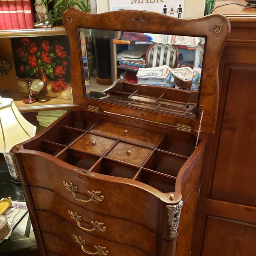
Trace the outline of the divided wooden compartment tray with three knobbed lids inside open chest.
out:
[[[194,149],[193,134],[145,130],[87,112],[70,111],[44,137],[24,143],[24,148],[48,153],[81,172],[137,180],[161,192],[175,191],[177,174]]]

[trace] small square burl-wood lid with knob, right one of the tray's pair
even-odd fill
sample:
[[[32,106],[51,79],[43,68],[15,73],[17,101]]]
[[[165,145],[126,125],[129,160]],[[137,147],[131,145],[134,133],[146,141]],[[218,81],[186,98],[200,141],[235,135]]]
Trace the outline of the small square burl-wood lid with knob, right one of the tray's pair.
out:
[[[119,142],[107,155],[107,157],[136,166],[142,166],[152,150],[140,146]]]

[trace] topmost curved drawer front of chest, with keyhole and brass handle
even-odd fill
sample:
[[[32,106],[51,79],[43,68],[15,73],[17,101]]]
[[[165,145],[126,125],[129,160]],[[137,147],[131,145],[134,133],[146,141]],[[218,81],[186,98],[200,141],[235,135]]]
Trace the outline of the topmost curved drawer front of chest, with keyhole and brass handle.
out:
[[[28,185],[50,189],[85,209],[135,221],[155,233],[159,232],[160,198],[156,196],[159,194],[157,189],[145,185],[147,191],[140,188],[142,183],[134,180],[132,183],[137,186],[128,179],[76,172],[70,170],[73,166],[61,160],[57,164],[56,160],[34,154],[23,154],[22,157]]]

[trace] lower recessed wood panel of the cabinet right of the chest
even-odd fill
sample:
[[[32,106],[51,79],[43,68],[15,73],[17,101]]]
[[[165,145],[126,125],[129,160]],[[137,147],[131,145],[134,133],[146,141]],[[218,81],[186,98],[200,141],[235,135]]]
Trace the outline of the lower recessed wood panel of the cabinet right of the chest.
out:
[[[256,226],[208,216],[201,256],[255,256]]]

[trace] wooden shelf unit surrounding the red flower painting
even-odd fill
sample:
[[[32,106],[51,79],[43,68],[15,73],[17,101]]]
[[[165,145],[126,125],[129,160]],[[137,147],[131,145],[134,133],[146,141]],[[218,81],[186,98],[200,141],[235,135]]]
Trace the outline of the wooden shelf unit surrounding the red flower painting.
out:
[[[32,104],[24,104],[23,98],[28,93],[20,92],[17,85],[15,63],[13,58],[13,49],[11,38],[15,37],[40,37],[65,35],[64,27],[48,29],[19,29],[19,30],[1,30],[0,31],[0,55],[12,64],[12,70],[6,75],[0,76],[0,94],[6,98],[12,98],[15,105],[21,112],[38,111],[52,108],[70,108],[73,106],[72,99],[61,99],[39,95],[39,101]]]

